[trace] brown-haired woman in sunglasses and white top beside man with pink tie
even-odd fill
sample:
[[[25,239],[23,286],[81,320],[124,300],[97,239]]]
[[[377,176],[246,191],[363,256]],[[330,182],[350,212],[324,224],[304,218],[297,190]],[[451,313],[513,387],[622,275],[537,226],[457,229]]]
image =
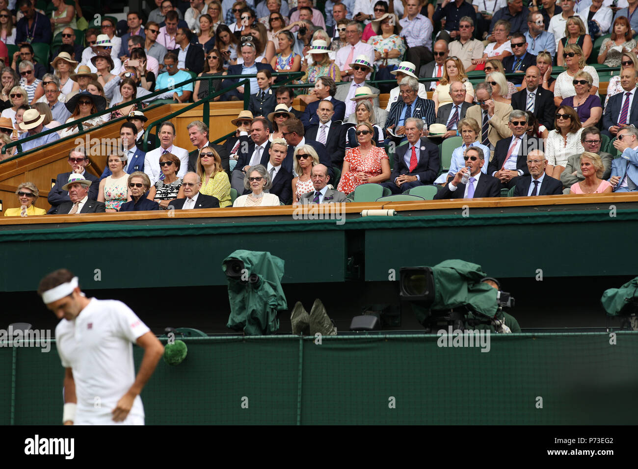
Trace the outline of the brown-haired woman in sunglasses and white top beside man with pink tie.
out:
[[[567,158],[572,154],[585,151],[581,143],[582,125],[574,108],[561,106],[556,110],[554,130],[549,132],[545,142],[545,173],[554,179],[560,179],[565,170]]]

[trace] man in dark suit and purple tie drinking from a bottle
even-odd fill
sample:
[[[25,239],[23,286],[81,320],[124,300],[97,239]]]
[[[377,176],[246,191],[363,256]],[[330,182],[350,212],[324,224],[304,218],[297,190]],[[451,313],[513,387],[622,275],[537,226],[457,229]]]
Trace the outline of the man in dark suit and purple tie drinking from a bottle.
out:
[[[480,170],[485,164],[485,154],[482,149],[470,147],[465,151],[464,158],[466,158],[466,166],[454,175],[452,181],[445,184],[443,190],[438,191],[434,199],[499,197],[501,191],[498,188],[498,179],[489,174],[483,174]],[[467,184],[462,182],[464,174],[470,176]]]

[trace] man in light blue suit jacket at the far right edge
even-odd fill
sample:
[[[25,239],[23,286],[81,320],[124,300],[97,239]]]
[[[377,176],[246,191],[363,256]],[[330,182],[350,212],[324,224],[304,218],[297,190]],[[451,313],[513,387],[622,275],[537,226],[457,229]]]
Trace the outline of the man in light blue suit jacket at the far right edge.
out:
[[[613,98],[614,96],[612,96]],[[611,98],[609,98],[611,101]],[[618,131],[614,147],[623,152],[611,163],[609,182],[614,192],[632,192],[638,188],[638,129],[625,127]]]

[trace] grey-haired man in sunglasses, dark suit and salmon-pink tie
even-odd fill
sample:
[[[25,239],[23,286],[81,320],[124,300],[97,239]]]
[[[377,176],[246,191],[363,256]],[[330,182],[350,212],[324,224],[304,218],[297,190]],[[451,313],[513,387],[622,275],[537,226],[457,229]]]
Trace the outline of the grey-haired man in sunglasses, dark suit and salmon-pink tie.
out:
[[[543,149],[543,142],[537,137],[528,137],[527,113],[516,109],[510,113],[512,137],[503,138],[494,148],[494,158],[489,162],[487,174],[496,177],[501,183],[500,189],[514,187],[517,176],[530,175],[527,156],[533,150]]]

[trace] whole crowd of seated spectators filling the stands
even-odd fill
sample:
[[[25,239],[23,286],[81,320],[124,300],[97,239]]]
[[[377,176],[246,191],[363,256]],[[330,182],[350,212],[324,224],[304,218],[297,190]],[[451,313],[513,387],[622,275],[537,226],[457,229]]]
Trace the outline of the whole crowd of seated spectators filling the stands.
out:
[[[91,128],[126,116],[122,149],[107,155],[100,180],[91,181],[84,167],[59,175],[50,212],[70,202],[73,213],[100,211],[100,204],[126,211],[178,201],[180,208],[335,202],[375,183],[391,193],[434,184],[434,198],[638,186],[638,1],[622,8],[611,0],[329,0],[324,12],[311,0],[155,3],[148,13],[128,11],[124,28],[103,16],[78,45],[77,3],[54,1],[47,17],[33,0],[0,0],[0,41],[18,46],[12,57],[4,54],[0,70],[0,144],[24,140],[28,151],[77,133],[78,119]],[[33,44],[57,34],[50,61],[36,61]],[[591,54],[621,68],[604,102],[600,69],[587,64]],[[281,86],[286,72],[301,73]],[[241,75],[253,75],[249,86],[214,98],[250,94],[225,144],[212,144],[219,135],[194,121],[189,152],[173,144],[167,121],[152,149],[141,151],[145,106],[197,101]],[[184,84],[195,76],[215,78]],[[375,87],[373,76],[396,79],[396,86]],[[161,93],[137,101],[154,91]],[[292,107],[294,98],[304,111]],[[440,145],[457,136],[444,171]],[[612,147],[620,153],[615,160],[602,151]],[[73,153],[69,162],[82,158],[88,163]],[[93,197],[70,198],[70,178],[82,189],[76,198],[85,186]]]

